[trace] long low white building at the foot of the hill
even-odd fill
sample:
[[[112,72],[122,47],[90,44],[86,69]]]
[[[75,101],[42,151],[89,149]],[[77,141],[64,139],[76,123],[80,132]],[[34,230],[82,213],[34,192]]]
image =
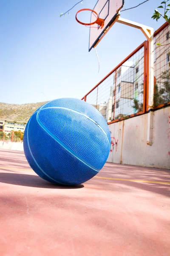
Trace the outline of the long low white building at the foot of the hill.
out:
[[[26,122],[5,120],[3,125],[4,131],[25,131]]]

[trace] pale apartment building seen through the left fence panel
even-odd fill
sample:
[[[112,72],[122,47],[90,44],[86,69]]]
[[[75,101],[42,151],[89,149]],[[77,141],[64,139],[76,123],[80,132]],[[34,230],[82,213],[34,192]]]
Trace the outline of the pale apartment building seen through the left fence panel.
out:
[[[136,113],[137,110],[133,108],[134,99],[143,101],[143,63],[144,56],[141,53],[135,62],[126,61],[117,70],[113,79],[115,86],[113,86],[111,109],[111,100],[108,101],[111,120],[113,116],[114,119],[118,119]]]

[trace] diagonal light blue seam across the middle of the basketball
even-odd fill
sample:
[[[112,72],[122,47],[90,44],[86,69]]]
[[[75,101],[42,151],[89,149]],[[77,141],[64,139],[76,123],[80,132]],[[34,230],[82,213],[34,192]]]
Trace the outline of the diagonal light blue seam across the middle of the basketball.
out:
[[[93,169],[95,172],[99,172],[100,169],[92,166],[90,163],[88,163],[87,161],[85,161],[85,159],[83,159],[82,157],[80,157],[78,154],[76,154],[71,148],[69,148],[67,145],[65,145],[65,143],[63,143],[61,140],[59,140],[59,138],[57,138],[57,136],[55,136],[51,131],[48,130],[48,128],[40,121],[39,118],[39,113],[40,111],[37,112],[37,122],[40,125],[40,127],[48,134],[50,135],[57,143],[59,143],[59,145],[61,145],[63,148],[65,148],[65,150],[67,150],[70,154],[72,154],[74,157],[76,157],[79,161],[81,161],[82,163],[84,163],[86,166],[88,166],[89,168]]]

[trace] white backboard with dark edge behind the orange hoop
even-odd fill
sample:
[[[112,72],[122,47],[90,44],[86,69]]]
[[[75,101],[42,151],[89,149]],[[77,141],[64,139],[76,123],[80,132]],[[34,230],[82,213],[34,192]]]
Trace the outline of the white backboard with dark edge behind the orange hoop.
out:
[[[116,21],[116,18],[119,17],[118,13],[124,5],[124,0],[98,0],[94,6],[94,11],[97,12],[99,18],[105,20],[105,24],[101,29],[90,27],[90,36],[89,36],[89,52],[93,47],[95,47],[103,36],[108,32],[111,26]],[[96,17],[91,14],[91,23],[96,20]]]

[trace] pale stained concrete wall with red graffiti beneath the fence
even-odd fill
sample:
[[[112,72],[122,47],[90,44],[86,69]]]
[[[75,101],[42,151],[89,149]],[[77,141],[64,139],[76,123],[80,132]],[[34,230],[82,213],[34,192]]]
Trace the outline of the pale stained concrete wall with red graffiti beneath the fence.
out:
[[[147,145],[147,115],[109,125],[108,162],[170,169],[170,107],[153,113],[153,145]]]

